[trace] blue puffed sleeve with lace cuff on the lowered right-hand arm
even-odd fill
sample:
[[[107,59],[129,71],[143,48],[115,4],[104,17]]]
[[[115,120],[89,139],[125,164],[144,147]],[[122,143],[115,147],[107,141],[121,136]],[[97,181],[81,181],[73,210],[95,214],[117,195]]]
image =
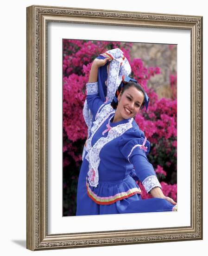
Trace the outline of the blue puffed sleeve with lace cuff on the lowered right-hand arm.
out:
[[[143,145],[144,141],[144,132],[132,128],[131,131],[126,132],[122,136],[120,151],[126,160],[133,165],[136,175],[149,193],[155,187],[161,188],[161,185],[152,164],[146,157],[150,151],[150,142],[146,141],[145,145]]]

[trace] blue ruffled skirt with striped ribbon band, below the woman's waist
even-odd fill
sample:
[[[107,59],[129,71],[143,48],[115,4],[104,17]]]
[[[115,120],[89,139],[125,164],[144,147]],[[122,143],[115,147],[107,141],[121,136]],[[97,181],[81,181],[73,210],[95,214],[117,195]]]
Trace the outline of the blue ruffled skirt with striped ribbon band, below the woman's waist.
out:
[[[87,172],[88,161],[84,159],[77,187],[76,216],[176,210],[175,205],[161,198],[141,199],[141,190],[130,175],[120,181],[99,181],[95,188],[89,185]]]

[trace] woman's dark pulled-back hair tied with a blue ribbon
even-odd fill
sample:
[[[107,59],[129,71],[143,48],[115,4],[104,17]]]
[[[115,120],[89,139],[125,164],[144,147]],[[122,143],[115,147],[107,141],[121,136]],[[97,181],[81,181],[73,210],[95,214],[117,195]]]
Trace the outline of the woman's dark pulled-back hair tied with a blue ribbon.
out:
[[[122,86],[122,88],[121,88],[121,86]],[[142,102],[142,105],[141,105],[141,108],[144,108],[144,106],[145,106],[145,90],[141,87],[141,85],[139,83],[130,81],[125,84],[123,82],[120,83],[120,86],[118,87],[118,89],[115,92],[115,97],[113,98],[113,101],[111,102],[111,106],[113,109],[116,109],[118,106],[118,100],[116,100],[115,98],[118,98],[120,93],[123,94],[123,92],[126,89],[128,89],[132,86],[134,86],[136,89],[138,89],[138,91],[140,91],[144,94],[144,101]]]

